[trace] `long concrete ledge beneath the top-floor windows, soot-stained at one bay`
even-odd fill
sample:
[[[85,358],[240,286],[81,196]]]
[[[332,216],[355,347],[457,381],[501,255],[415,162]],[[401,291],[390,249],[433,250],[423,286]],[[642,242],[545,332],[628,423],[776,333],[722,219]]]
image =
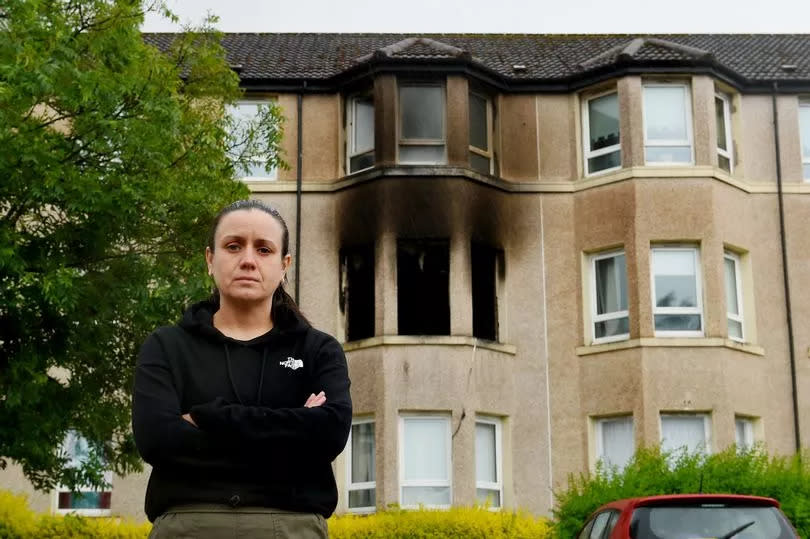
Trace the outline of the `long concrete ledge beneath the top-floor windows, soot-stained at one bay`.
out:
[[[479,174],[464,167],[451,166],[417,166],[402,165],[376,167],[334,180],[309,181],[304,180],[301,186],[305,193],[334,193],[362,185],[372,181],[390,178],[459,178],[462,180],[486,185],[507,193],[576,193],[586,189],[593,189],[611,183],[631,179],[714,179],[746,193],[774,194],[776,182],[750,182],[734,178],[725,171],[711,166],[684,166],[684,167],[633,167],[616,170],[595,177],[580,178],[576,180],[530,181],[513,182],[496,176]],[[251,193],[294,193],[295,181],[250,181],[245,185]],[[810,194],[810,182],[783,184],[783,191],[787,194]]]

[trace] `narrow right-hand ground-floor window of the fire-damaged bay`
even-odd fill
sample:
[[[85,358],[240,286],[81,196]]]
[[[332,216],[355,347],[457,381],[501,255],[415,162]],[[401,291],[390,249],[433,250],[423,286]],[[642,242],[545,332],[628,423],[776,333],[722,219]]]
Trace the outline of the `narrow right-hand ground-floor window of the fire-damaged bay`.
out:
[[[475,420],[475,498],[480,504],[498,508],[503,504],[501,464],[501,420]]]

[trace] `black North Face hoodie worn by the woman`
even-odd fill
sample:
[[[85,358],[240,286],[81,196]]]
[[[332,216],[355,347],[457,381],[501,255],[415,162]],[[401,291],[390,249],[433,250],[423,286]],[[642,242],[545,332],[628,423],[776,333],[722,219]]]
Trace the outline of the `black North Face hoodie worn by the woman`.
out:
[[[231,339],[213,326],[217,308],[193,305],[178,326],[157,329],[141,347],[132,426],[152,465],[147,517],[214,503],[328,518],[337,504],[331,462],[352,418],[343,349],[303,321]],[[320,391],[326,403],[305,408]]]

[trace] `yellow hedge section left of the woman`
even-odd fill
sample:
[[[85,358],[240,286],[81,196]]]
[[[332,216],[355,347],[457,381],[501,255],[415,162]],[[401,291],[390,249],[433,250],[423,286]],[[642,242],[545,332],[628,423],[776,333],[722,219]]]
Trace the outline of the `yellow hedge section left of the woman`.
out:
[[[0,490],[0,539],[144,539],[151,528],[117,518],[38,515],[25,496]]]

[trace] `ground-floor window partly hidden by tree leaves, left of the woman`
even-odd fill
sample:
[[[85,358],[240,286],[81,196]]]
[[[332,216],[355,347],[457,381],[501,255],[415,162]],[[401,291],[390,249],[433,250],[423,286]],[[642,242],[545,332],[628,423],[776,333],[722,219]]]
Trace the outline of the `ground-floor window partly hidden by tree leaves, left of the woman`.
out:
[[[62,442],[62,452],[68,459],[70,468],[80,467],[90,458],[90,445],[87,440],[75,431],[69,431]],[[112,482],[112,473],[105,472],[104,482]],[[57,513],[78,513],[84,516],[106,516],[110,513],[110,490],[80,488],[77,492],[58,487],[56,491]]]

